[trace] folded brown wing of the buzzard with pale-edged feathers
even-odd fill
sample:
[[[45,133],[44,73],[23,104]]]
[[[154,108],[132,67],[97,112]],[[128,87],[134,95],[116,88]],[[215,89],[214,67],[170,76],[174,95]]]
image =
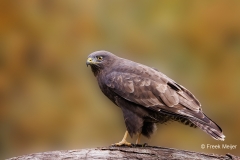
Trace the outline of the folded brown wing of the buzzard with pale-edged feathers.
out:
[[[106,85],[124,99],[145,107],[177,109],[182,106],[181,109],[185,107],[196,112],[201,109],[201,104],[190,91],[161,72],[143,65],[131,71],[109,73],[105,77]]]

